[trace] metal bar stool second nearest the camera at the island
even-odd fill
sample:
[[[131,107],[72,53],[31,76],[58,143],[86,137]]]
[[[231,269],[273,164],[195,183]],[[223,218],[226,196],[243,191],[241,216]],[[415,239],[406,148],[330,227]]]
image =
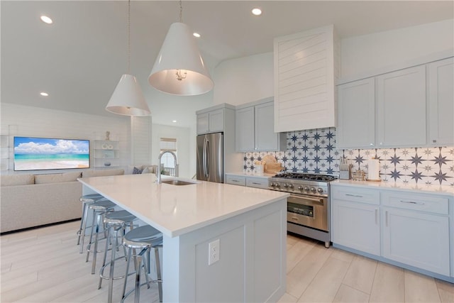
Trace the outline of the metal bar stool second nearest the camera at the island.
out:
[[[114,289],[114,280],[121,279],[123,276],[114,277],[114,268],[115,268],[115,261],[116,261],[116,250],[118,249],[120,243],[118,243],[118,232],[122,232],[122,236],[126,234],[126,227],[129,226],[131,228],[130,231],[133,230],[133,221],[137,219],[133,214],[130,214],[128,211],[112,211],[104,216],[104,225],[107,229],[106,235],[106,248],[104,249],[104,258],[101,266],[101,270],[99,270],[99,284],[98,290],[101,288],[102,280],[106,279],[109,280],[109,292],[108,292],[108,299],[107,302],[112,302],[112,292]],[[107,258],[107,251],[109,250],[109,236],[113,238],[111,241],[111,260],[106,263]],[[126,258],[126,248],[123,246],[124,249],[124,258]],[[123,258],[123,257],[120,257]],[[118,259],[120,259],[118,258]],[[104,269],[107,265],[110,264],[110,271],[109,276],[104,275]]]

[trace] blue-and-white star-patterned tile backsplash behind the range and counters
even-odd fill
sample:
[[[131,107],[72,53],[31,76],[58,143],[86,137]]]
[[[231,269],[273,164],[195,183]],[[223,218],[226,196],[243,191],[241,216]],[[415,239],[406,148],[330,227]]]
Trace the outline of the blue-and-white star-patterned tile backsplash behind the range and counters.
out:
[[[328,175],[339,174],[341,157],[353,164],[353,170],[365,172],[367,160],[378,158],[384,181],[454,186],[454,147],[337,150],[336,128],[292,131],[287,133],[285,152],[245,153],[245,172],[252,172],[254,160],[265,155],[274,155],[289,172]]]

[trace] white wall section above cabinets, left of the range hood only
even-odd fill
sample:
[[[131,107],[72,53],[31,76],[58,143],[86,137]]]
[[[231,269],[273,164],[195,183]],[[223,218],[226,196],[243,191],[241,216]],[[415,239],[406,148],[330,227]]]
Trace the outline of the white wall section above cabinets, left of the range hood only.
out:
[[[274,96],[273,54],[221,62],[214,71],[214,104],[245,104]]]

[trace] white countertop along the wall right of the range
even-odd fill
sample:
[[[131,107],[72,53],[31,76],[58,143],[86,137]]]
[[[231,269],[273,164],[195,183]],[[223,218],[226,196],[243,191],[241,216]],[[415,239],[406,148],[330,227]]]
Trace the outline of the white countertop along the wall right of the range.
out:
[[[420,193],[433,193],[433,194],[445,194],[449,197],[454,196],[454,187],[449,185],[436,185],[436,184],[409,184],[404,182],[372,182],[372,181],[353,181],[353,180],[336,180],[330,182],[331,184],[341,184],[346,186],[366,186],[371,188],[381,189],[395,189],[395,190],[406,190],[409,192],[420,192]]]

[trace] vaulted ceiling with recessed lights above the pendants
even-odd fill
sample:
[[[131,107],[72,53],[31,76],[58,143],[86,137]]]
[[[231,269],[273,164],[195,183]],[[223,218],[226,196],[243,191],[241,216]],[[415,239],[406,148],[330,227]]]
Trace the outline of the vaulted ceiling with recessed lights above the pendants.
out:
[[[256,6],[262,16],[250,13]],[[183,1],[182,8],[211,71],[223,60],[271,52],[277,36],[328,24],[348,38],[453,18],[453,1]],[[127,12],[127,1],[1,1],[1,102],[113,115],[104,107],[127,72]],[[178,1],[131,1],[131,73],[153,123],[189,126],[212,92],[175,97],[148,84],[177,21]]]

